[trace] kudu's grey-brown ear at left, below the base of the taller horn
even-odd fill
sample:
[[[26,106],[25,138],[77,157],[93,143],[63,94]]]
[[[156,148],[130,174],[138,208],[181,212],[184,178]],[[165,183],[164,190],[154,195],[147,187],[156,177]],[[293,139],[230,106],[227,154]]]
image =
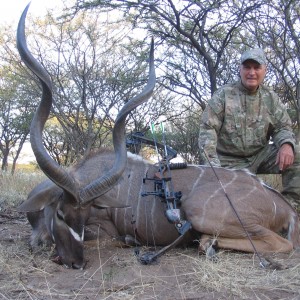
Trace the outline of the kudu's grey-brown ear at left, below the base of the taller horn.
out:
[[[39,211],[59,199],[63,190],[47,179],[38,184],[17,208],[19,212]]]

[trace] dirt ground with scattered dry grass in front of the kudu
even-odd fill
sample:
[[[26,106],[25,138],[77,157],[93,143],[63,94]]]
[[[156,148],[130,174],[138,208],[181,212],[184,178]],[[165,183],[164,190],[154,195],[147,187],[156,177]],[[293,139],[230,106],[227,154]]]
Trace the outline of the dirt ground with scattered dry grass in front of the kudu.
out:
[[[50,251],[32,254],[23,214],[0,212],[0,299],[300,299],[300,254],[271,258],[286,269],[263,269],[252,254],[173,249],[142,265],[132,248],[107,240],[85,243],[84,270],[66,269]],[[147,249],[140,249],[142,252]]]

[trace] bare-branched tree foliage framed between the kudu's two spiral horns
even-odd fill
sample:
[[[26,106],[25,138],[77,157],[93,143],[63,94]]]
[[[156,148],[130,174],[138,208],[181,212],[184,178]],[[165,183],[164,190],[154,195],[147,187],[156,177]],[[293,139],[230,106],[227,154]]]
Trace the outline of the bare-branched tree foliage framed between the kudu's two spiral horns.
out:
[[[55,23],[48,16],[42,28],[36,29],[40,25],[36,22],[28,30],[30,49],[53,80],[52,116],[58,123],[45,128],[45,145],[62,164],[88,155],[99,146],[111,145],[111,131],[119,109],[147,80],[149,41],[128,48],[127,43],[117,41],[124,34],[124,24],[108,28],[101,18],[98,14],[81,14],[71,22]],[[109,29],[111,35],[107,35]],[[33,30],[34,35],[30,34]],[[164,113],[168,107],[163,102],[165,98],[142,106],[141,113],[131,114],[128,127],[143,127],[145,115],[155,119]],[[61,160],[63,152],[65,158]]]

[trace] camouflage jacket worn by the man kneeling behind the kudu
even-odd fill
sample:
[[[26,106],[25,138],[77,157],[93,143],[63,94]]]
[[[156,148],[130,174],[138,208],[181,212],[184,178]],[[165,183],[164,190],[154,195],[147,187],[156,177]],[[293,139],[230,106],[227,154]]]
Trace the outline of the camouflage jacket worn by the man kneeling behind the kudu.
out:
[[[201,117],[199,146],[215,165],[220,165],[217,154],[250,157],[270,138],[278,147],[290,143],[295,148],[290,117],[275,92],[264,85],[255,93],[240,82],[223,86]]]

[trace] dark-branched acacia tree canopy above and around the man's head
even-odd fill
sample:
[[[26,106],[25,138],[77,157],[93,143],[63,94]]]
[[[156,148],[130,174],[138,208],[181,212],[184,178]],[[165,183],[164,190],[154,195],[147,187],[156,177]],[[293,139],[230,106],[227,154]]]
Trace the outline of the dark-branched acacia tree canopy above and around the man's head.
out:
[[[269,61],[266,83],[280,94],[299,128],[298,1],[77,0],[74,6],[75,11],[89,8],[122,11],[133,30],[155,36],[160,83],[201,109],[216,88],[237,78],[242,51],[263,48]]]

